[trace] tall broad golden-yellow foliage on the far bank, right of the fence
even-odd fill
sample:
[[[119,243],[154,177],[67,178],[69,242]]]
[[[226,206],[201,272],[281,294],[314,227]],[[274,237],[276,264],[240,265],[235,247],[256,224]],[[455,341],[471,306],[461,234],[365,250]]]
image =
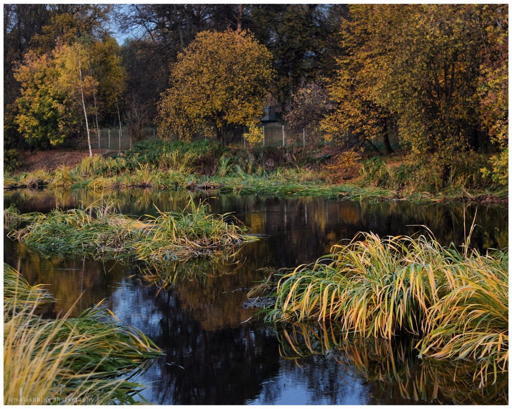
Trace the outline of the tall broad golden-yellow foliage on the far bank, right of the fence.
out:
[[[447,180],[457,152],[488,143],[479,89],[482,80],[488,83],[482,64],[489,30],[498,25],[489,14],[500,7],[350,6],[342,29],[345,55],[330,88],[338,109],[328,130],[355,127],[371,136],[394,129],[389,120],[396,120],[402,146],[433,155]]]

